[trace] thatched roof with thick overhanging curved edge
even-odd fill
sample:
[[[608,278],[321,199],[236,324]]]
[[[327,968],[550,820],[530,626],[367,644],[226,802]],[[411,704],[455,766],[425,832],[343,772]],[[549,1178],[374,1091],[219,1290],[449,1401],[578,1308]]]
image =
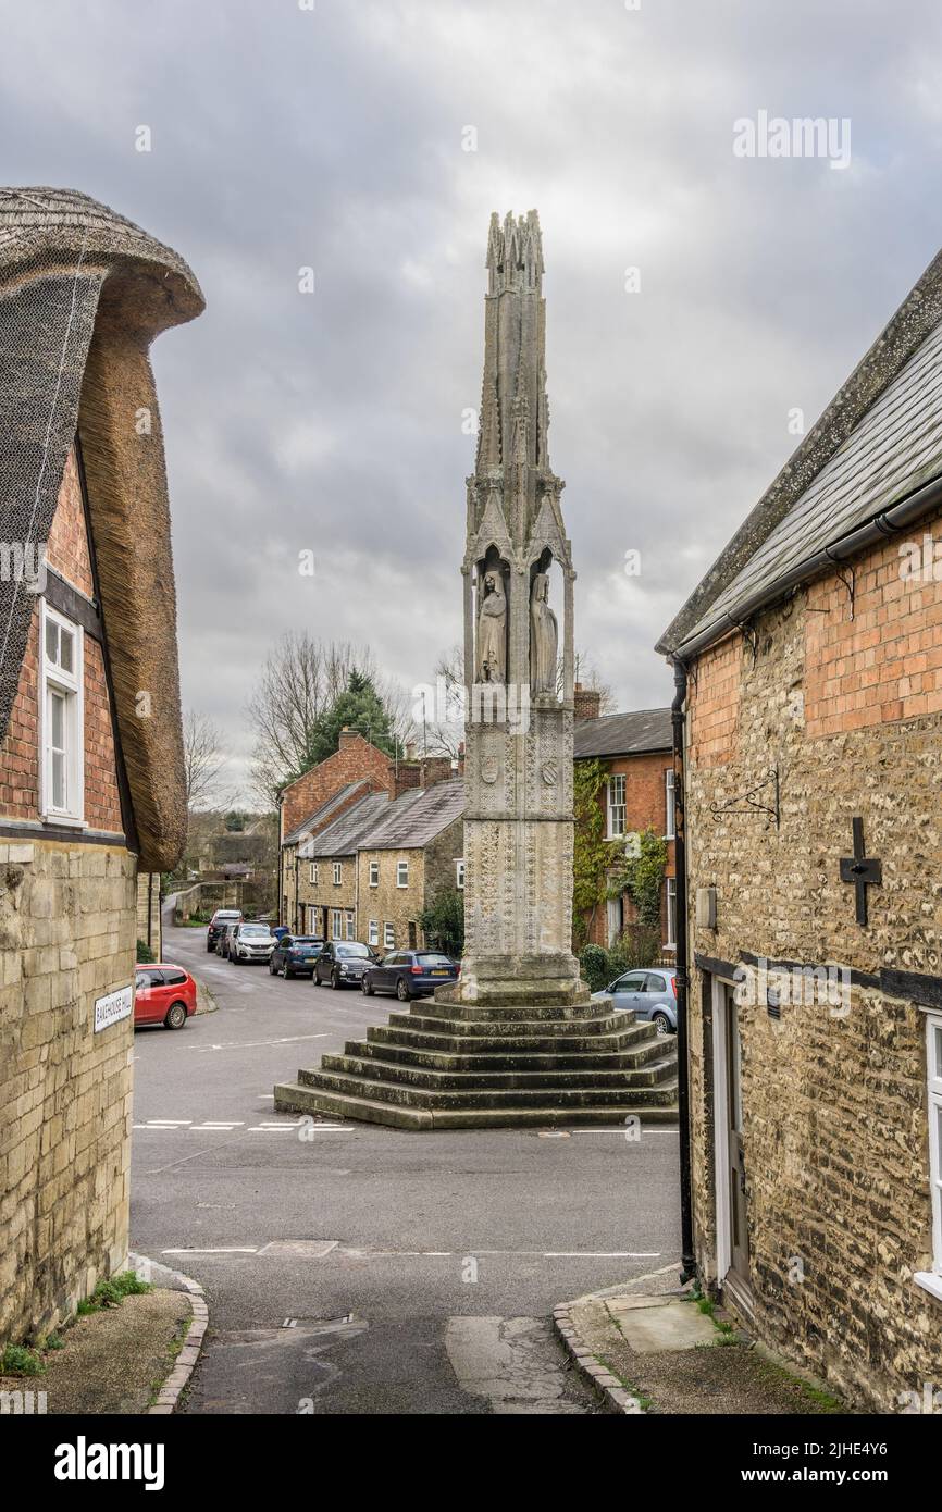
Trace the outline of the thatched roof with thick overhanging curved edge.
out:
[[[68,189],[0,189],[3,538],[48,538],[77,432],[119,744],[150,871],[175,863],[186,803],[166,470],[148,348],[203,307],[183,259],[106,206]],[[0,582],[0,739],[32,603],[23,584]]]

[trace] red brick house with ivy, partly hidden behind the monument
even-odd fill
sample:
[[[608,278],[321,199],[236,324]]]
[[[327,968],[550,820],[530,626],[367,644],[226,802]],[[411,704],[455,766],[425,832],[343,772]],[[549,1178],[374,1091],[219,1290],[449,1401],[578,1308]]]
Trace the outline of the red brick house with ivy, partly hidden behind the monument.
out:
[[[599,694],[576,689],[573,754],[578,762],[600,761],[606,777],[599,792],[605,838],[612,857],[646,829],[667,841],[661,900],[661,937],[670,956],[677,940],[674,872],[673,741],[670,709],[637,709],[597,715]],[[591,717],[594,712],[594,717]],[[615,860],[617,865],[617,860]],[[627,892],[606,898],[587,915],[587,942],[611,947],[637,922]]]

